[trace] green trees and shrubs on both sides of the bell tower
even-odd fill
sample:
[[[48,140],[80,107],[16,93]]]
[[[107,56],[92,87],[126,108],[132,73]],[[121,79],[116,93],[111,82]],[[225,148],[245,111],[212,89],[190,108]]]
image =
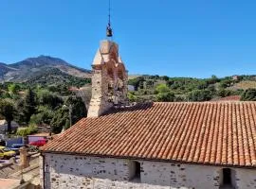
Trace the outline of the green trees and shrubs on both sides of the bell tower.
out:
[[[52,70],[54,73],[56,70]],[[52,74],[54,75],[54,74]],[[65,82],[5,82],[0,84],[0,119],[8,125],[15,120],[24,128],[16,134],[27,135],[39,127],[50,127],[59,133],[86,116],[84,99],[70,90],[90,82],[86,78],[68,77]],[[241,100],[256,101],[256,77],[159,77],[141,76],[129,80],[135,91],[128,93],[131,102],[141,101],[209,101],[229,95],[240,95]],[[87,95],[83,92],[82,96]],[[86,97],[85,97],[86,98]],[[89,95],[87,96],[89,99]],[[10,126],[10,125],[9,125]],[[10,127],[8,129],[11,133]],[[13,131],[12,131],[13,133]]]

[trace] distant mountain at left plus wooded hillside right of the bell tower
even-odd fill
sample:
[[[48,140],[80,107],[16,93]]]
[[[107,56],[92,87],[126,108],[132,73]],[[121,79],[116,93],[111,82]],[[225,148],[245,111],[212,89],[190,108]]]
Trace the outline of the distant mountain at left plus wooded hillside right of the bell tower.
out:
[[[82,87],[90,83],[91,71],[48,56],[29,58],[12,64],[0,63],[0,82],[22,82],[27,86]],[[256,76],[193,78],[130,75],[131,101],[209,101],[239,99],[247,89],[256,89]],[[130,87],[130,90],[132,88]],[[57,90],[58,91],[58,90]],[[247,94],[254,99],[254,91]],[[256,93],[256,92],[255,92]],[[227,96],[231,96],[226,98]],[[241,98],[243,99],[243,98]]]

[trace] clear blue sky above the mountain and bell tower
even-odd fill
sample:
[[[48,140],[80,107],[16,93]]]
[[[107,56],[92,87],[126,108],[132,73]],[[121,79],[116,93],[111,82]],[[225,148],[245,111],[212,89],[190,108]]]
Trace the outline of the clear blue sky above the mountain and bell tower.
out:
[[[256,74],[255,0],[112,0],[114,40],[130,74]],[[107,0],[2,0],[0,62],[49,55],[90,68]]]

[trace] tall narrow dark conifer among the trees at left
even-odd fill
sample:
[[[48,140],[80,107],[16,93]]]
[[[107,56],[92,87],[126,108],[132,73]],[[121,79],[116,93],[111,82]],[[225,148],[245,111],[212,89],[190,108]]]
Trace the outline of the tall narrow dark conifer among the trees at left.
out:
[[[31,115],[36,112],[35,94],[30,88],[28,88],[25,95],[23,112],[26,123],[29,122]]]

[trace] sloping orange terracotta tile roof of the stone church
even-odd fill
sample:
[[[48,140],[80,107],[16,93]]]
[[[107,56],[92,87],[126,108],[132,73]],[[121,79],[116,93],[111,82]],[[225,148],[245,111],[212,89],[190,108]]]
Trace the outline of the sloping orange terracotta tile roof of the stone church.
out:
[[[82,118],[42,150],[256,167],[256,103],[141,104]]]

